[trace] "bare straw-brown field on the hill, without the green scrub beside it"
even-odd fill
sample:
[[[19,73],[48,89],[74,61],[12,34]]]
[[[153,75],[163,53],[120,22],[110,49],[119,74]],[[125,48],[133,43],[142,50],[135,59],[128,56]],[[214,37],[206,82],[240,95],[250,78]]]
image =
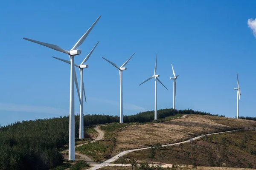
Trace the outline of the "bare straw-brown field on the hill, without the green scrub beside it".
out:
[[[256,127],[256,121],[205,115],[188,115],[163,123],[138,124],[114,132],[116,147],[113,153],[155,144],[171,144],[192,137],[239,128]]]

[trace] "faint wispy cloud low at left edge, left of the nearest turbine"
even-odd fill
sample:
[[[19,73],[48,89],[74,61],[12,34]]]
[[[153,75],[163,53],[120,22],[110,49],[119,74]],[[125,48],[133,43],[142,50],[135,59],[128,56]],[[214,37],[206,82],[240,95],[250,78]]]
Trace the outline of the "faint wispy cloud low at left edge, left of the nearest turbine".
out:
[[[32,112],[32,113],[50,113],[58,115],[67,115],[68,110],[52,108],[48,106],[32,106],[32,105],[20,105],[14,103],[0,103],[1,111],[19,111],[19,112]]]

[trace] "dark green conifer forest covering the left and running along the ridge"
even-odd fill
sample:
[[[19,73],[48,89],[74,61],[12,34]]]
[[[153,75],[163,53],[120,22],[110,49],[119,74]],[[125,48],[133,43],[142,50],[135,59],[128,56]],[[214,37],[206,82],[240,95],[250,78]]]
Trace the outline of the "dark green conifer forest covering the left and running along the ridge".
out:
[[[210,113],[193,110],[161,109],[159,119],[182,114]],[[218,116],[218,115],[214,115]],[[154,111],[124,116],[124,122],[150,122]],[[84,126],[119,122],[119,116],[84,115]],[[79,137],[79,115],[75,116],[75,135]],[[0,127],[0,170],[46,170],[60,165],[63,157],[59,149],[68,144],[69,116],[15,122]]]

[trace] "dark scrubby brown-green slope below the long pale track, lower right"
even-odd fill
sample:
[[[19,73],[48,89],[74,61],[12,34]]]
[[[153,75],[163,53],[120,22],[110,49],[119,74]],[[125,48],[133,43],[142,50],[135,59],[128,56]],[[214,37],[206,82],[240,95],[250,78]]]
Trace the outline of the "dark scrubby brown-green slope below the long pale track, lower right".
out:
[[[241,130],[232,133],[205,136],[194,142],[163,147],[157,150],[154,162],[161,162],[160,153],[165,153],[163,163],[190,164],[200,166],[226,166],[246,168],[251,162],[256,168],[256,131]],[[151,161],[150,150],[128,153],[125,159],[134,158],[138,161]],[[120,161],[117,161],[120,162]]]

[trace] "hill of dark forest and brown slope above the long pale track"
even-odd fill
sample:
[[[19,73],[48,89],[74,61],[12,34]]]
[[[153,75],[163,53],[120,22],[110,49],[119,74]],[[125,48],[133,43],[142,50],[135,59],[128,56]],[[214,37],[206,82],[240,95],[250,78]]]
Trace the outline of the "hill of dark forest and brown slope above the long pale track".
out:
[[[183,114],[186,117],[179,118]],[[192,115],[195,114],[195,115]],[[157,121],[154,112],[146,111],[124,116],[125,124],[119,124],[118,116],[85,115],[85,136],[93,138],[92,125],[105,130],[104,140],[76,147],[76,151],[90,156],[93,160],[106,160],[122,150],[141,148],[156,144],[169,144],[202,133],[219,132],[238,128],[255,127],[255,121],[219,117],[210,113],[192,110],[161,109]],[[248,118],[246,118],[248,119]],[[249,118],[250,119],[250,118]],[[47,170],[63,164],[60,150],[68,144],[69,117],[38,119],[15,122],[0,127],[0,170],[40,169]],[[75,116],[75,133],[79,134],[79,116]],[[78,140],[82,144],[91,139]]]

